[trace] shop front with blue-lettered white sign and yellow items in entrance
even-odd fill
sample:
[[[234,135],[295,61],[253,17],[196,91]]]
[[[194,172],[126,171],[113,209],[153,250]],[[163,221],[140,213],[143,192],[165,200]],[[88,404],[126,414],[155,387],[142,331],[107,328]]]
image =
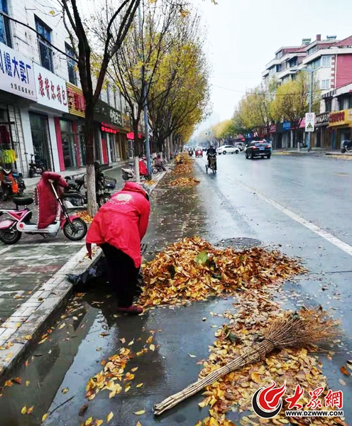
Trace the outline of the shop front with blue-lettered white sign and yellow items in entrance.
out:
[[[0,166],[28,173],[23,119],[36,102],[33,62],[0,43]],[[24,109],[24,113],[22,111]],[[23,116],[24,114],[24,116]]]

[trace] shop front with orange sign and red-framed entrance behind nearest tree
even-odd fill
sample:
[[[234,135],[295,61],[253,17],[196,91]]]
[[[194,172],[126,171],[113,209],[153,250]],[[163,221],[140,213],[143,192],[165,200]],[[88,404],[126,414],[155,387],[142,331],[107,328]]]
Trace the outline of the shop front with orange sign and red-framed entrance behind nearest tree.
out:
[[[55,119],[60,169],[75,169],[86,165],[84,140],[85,102],[82,89],[66,83],[67,112]]]

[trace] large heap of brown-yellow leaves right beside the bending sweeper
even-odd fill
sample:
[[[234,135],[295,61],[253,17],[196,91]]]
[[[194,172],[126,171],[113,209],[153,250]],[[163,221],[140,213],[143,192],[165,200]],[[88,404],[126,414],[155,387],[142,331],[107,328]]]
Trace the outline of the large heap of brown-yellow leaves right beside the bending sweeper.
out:
[[[238,289],[253,291],[304,271],[279,251],[215,249],[195,236],[172,244],[143,266],[140,303],[175,305]]]

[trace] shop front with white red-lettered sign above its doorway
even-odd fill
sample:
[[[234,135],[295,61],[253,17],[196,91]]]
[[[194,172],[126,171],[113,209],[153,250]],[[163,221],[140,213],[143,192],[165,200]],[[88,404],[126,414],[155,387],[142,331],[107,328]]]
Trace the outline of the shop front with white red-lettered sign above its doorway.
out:
[[[47,170],[59,171],[61,147],[55,121],[68,113],[66,82],[40,65],[33,64],[33,69],[38,97],[38,103],[29,112],[33,151]]]

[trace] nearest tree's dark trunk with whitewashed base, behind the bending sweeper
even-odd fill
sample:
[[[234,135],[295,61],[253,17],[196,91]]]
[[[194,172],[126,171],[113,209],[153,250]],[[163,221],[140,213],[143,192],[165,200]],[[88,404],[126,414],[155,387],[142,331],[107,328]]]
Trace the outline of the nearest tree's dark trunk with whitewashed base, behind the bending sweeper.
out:
[[[87,198],[88,213],[94,217],[97,213],[97,194],[95,188],[94,170],[94,108],[87,107],[84,119],[84,138],[86,141],[87,161]]]

